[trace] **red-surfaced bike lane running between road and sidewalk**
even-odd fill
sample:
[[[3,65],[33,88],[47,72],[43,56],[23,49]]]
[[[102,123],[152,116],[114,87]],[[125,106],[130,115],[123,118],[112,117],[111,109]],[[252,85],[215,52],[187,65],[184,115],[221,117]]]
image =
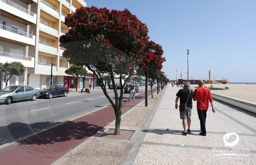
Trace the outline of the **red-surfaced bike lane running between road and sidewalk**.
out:
[[[153,92],[156,90],[153,89]],[[150,94],[148,91],[148,96]],[[134,101],[123,101],[122,114],[125,114],[144,99],[145,93],[142,93],[136,95]],[[112,106],[102,108],[1,148],[0,163],[3,165],[50,165],[113,120],[115,120],[115,114]]]

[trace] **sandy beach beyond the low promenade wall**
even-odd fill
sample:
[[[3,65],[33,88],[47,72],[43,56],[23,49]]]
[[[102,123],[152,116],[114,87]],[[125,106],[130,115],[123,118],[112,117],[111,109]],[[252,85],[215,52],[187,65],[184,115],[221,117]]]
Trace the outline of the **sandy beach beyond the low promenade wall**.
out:
[[[256,102],[256,84],[205,84],[206,87],[210,87],[211,85],[214,88],[229,87],[228,90],[212,90],[212,93],[235,97],[250,102]],[[198,85],[191,85],[191,87],[195,86]]]

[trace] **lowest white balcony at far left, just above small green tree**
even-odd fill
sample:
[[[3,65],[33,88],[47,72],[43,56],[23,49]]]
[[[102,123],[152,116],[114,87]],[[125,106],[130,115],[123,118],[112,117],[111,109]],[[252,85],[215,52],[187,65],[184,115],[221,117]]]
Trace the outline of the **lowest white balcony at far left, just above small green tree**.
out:
[[[12,54],[4,51],[0,51],[0,57],[1,57],[1,60],[7,61],[9,63],[17,61],[22,63],[25,67],[34,68],[34,64],[35,64],[34,57],[23,56],[20,54]]]

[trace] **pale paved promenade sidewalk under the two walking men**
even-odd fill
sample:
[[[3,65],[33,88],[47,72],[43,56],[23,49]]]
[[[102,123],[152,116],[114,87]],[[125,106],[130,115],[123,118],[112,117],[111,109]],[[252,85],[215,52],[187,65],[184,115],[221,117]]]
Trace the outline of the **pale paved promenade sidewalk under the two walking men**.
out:
[[[181,135],[182,121],[175,109],[180,88],[167,85],[154,99],[148,99],[122,116],[121,129],[134,130],[130,139],[116,136],[90,137],[54,164],[59,165],[172,165],[172,164],[256,164],[255,115],[214,102],[216,113],[207,112],[207,136],[198,135],[200,122],[196,102],[192,109],[192,134]],[[114,122],[104,128],[114,128]],[[225,146],[226,133],[239,135],[233,147]],[[124,131],[122,134],[125,134]],[[121,136],[122,137],[122,136]],[[231,136],[227,142],[236,138]]]

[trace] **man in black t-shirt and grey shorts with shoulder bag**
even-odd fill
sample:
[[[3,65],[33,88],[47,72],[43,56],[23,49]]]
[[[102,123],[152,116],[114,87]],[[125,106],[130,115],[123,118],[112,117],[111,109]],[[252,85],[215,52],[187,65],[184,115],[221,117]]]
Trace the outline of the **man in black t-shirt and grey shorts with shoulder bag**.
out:
[[[190,93],[189,93],[190,91]],[[187,99],[187,107],[189,108],[189,111],[180,111],[180,119],[182,119],[182,125],[183,125],[183,135],[187,135],[191,133],[190,130],[190,124],[191,124],[191,112],[192,112],[192,99],[194,96],[193,90],[190,90],[190,83],[187,81],[184,84],[184,88],[180,89],[176,94],[176,100],[175,100],[175,108],[178,108],[178,100],[180,99],[180,104],[186,103]]]

